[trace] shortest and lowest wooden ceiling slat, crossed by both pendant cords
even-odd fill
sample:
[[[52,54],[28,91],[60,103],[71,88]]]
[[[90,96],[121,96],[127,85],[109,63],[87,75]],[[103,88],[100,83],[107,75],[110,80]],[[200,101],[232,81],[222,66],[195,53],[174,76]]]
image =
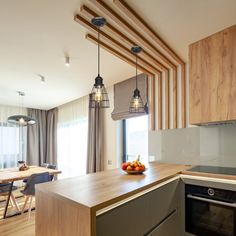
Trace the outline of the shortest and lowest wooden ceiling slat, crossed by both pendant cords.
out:
[[[89,40],[90,42],[94,43],[94,44],[98,44],[98,39],[96,37],[94,37],[91,34],[87,34],[86,35],[86,39]],[[128,57],[126,57],[125,55],[123,55],[122,53],[120,53],[119,51],[117,51],[116,49],[112,48],[111,46],[107,45],[106,43],[104,43],[102,40],[100,40],[100,45],[103,49],[105,49],[106,51],[110,52],[111,54],[113,54],[114,56],[120,58],[121,60],[123,60],[124,62],[130,64],[131,66],[136,66],[135,61],[129,59]],[[142,71],[143,73],[151,76],[152,78],[155,77],[155,75],[150,72],[149,70],[145,69],[143,66],[138,65],[138,69],[140,71]]]

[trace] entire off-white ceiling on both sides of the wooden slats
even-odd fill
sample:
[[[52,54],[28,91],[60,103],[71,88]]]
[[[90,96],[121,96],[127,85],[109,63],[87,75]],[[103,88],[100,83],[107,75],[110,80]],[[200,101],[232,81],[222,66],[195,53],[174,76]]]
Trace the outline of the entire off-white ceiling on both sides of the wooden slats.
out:
[[[236,24],[235,0],[127,2],[186,61],[190,43]],[[90,92],[97,74],[97,50],[73,20],[81,4],[81,0],[1,1],[0,104],[18,105],[17,90],[26,93],[26,107],[39,109]],[[64,66],[64,52],[71,56],[69,68]],[[107,87],[133,73],[131,66],[102,51]],[[45,76],[45,84],[37,74]]]

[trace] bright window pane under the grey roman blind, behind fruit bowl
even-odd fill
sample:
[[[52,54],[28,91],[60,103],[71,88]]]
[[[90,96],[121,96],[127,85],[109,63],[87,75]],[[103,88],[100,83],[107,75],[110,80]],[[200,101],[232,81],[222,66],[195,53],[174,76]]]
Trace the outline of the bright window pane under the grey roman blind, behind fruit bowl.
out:
[[[124,161],[148,162],[148,115],[124,120]]]

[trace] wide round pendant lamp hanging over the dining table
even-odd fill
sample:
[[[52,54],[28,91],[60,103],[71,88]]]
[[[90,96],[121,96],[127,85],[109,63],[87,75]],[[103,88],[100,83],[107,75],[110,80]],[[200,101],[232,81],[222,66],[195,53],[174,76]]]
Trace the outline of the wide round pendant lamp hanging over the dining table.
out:
[[[17,93],[19,94],[21,99],[23,99],[23,97],[25,96],[24,92],[17,91]],[[23,108],[23,102],[21,102],[21,105],[20,105],[21,112],[22,112],[22,108]],[[30,116],[25,116],[25,115],[9,116],[8,119],[7,119],[7,122],[11,123],[11,124],[14,124],[14,125],[19,125],[19,126],[29,126],[29,125],[36,124],[35,119],[33,119]]]

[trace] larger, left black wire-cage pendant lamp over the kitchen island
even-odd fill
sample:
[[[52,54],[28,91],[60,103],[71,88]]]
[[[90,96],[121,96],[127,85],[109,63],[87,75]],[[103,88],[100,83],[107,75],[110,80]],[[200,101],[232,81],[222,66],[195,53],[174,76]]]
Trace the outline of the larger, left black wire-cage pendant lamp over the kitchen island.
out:
[[[89,108],[109,108],[108,94],[103,84],[103,78],[100,76],[100,28],[106,24],[106,19],[95,17],[91,22],[98,32],[98,76],[95,78],[95,84],[89,94]]]

